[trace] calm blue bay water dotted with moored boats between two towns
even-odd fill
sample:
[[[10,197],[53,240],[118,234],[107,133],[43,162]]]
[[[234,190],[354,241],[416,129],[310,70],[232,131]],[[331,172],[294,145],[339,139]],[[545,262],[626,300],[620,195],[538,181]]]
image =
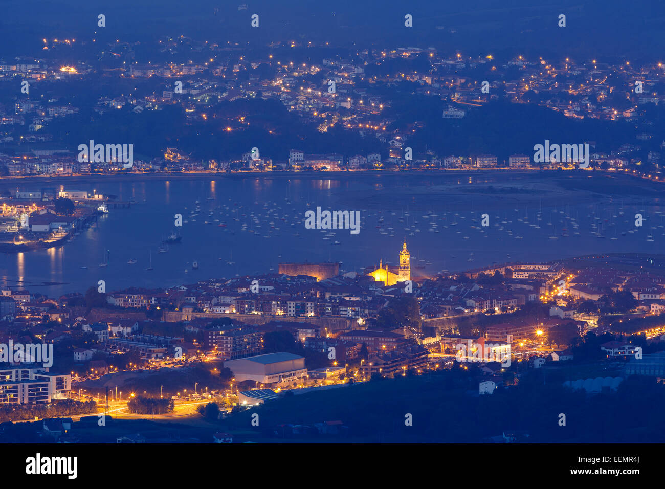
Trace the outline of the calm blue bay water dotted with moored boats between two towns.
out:
[[[248,176],[122,182],[100,178],[94,184],[68,183],[64,185],[68,190],[94,188],[119,200],[134,198],[139,204],[110,209],[97,226],[62,247],[0,255],[0,277],[4,285],[57,296],[84,291],[99,280],[106,281],[106,290],[112,291],[267,273],[271,268],[276,272],[280,261],[332,260],[342,262],[344,270],[360,271],[380,258],[395,264],[404,238],[415,257],[412,265],[423,265],[431,273],[509,260],[663,250],[664,209],[654,202],[614,198],[602,204],[575,204],[562,195],[544,206],[536,204],[533,196],[499,204],[482,196],[462,201],[439,187],[492,183],[493,178],[352,174],[327,180]],[[502,182],[506,180],[529,183],[528,176],[501,176]],[[201,210],[193,216],[197,200]],[[305,211],[316,206],[360,210],[360,234],[306,230]],[[637,212],[645,218],[642,228],[634,227]],[[489,215],[489,227],[481,227],[483,213]],[[175,214],[187,221],[180,230],[182,242],[157,253],[174,230]],[[107,250],[108,267],[100,267]],[[146,271],[151,252],[154,270]],[[138,263],[128,264],[130,258]],[[192,269],[194,261],[199,269]]]

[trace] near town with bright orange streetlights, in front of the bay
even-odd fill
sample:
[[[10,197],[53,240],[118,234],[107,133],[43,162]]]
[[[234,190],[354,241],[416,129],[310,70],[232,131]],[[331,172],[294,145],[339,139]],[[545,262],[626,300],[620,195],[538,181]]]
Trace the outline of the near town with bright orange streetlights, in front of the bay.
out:
[[[101,402],[102,391],[82,395],[78,386],[89,389],[90,381],[123,371],[209,361],[221,361],[230,371],[217,371],[222,376],[218,395],[236,396],[229,409],[263,403],[289,389],[424,375],[466,368],[465,361],[480,362],[479,393],[491,394],[503,385],[511,360],[513,369],[523,362],[541,368],[571,361],[589,334],[607,339],[594,362],[620,361],[612,363],[614,370],[664,375],[661,353],[630,361],[665,335],[665,279],[648,271],[622,271],[639,259],[614,257],[611,265],[579,267],[506,263],[410,276],[394,285],[378,281],[373,272],[335,273],[332,263],[285,263],[281,271],[288,273],[168,289],[99,293],[93,287],[53,298],[3,289],[0,343],[5,352],[13,351],[11,345],[52,345],[54,353],[49,367],[17,363],[5,353],[0,404]],[[321,271],[319,277],[299,273],[311,270]],[[460,356],[461,349],[466,355]],[[266,370],[257,373],[250,365],[254,361]],[[273,363],[277,367],[270,369]],[[580,388],[602,387],[593,379],[589,385],[580,382]],[[43,389],[33,389],[37,383]],[[173,389],[162,386],[162,397],[187,396]],[[200,391],[190,389],[186,399],[201,399],[202,384]],[[108,403],[108,389],[106,396]],[[112,397],[120,402],[122,392]]]

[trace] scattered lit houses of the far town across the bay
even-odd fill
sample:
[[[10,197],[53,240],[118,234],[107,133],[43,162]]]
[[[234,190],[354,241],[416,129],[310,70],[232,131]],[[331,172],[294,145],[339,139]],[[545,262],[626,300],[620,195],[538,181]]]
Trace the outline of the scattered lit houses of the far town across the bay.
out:
[[[75,39],[45,40],[44,49],[57,55],[77,43]],[[291,48],[312,48],[291,43]],[[289,47],[275,45],[277,51]],[[609,65],[596,60],[545,60],[542,58],[471,58],[458,52],[401,47],[358,51],[346,59],[334,55],[316,63],[296,63],[279,56],[247,59],[239,47],[197,42],[187,37],[160,39],[153,46],[156,57],[165,61],[134,61],[135,45],[116,41],[108,47],[113,59],[106,59],[104,77],[119,82],[147,82],[158,87],[149,93],[100,96],[95,116],[112,112],[132,118],[145,111],[169,107],[184,110],[188,124],[208,121],[214,113],[222,132],[249,129],[250,119],[225,113],[220,104],[238,100],[275,101],[297,115],[306,125],[327,132],[333,127],[357,132],[375,150],[367,153],[315,154],[293,148],[288,154],[265,154],[247,148],[244,154],[222,158],[200,158],[177,146],[164,146],[160,154],[136,148],[132,168],[113,158],[77,158],[75,147],[54,140],[50,128],[76,118],[82,107],[61,96],[39,99],[17,93],[11,104],[0,104],[0,172],[5,176],[65,176],[108,172],[236,172],[276,170],[378,170],[573,168],[577,161],[538,161],[523,152],[491,154],[446,154],[413,144],[427,120],[397,124],[391,107],[394,98],[409,93],[432,98],[442,104],[440,118],[458,124],[473,110],[493,100],[513,104],[537,104],[560,112],[566,118],[630,122],[637,128],[632,139],[615,148],[589,144],[590,168],[644,174],[658,180],[665,140],[658,140],[650,128],[650,108],[657,106],[662,92],[662,64],[634,66],[629,62]],[[170,57],[184,63],[166,61]],[[117,59],[116,59],[117,58]],[[118,66],[118,61],[121,64]],[[200,60],[200,61],[199,61]],[[205,61],[203,61],[205,60]],[[59,86],[98,77],[90,64],[75,65],[30,57],[5,59],[0,63],[0,85],[27,81],[39,86]],[[47,88],[50,89],[50,88]],[[243,112],[241,110],[241,112]],[[212,116],[211,116],[212,117]],[[219,118],[224,118],[222,122]],[[221,126],[219,125],[221,124]],[[267,126],[266,126],[267,127]],[[264,127],[265,129],[265,127]],[[662,138],[661,138],[662,139]],[[128,141],[130,142],[130,141]],[[573,141],[571,141],[572,143]],[[140,145],[138,145],[140,146]],[[257,144],[260,146],[260,144]],[[523,146],[520,146],[524,148]],[[530,147],[529,147],[530,148]],[[497,148],[498,149],[498,148]],[[510,151],[508,149],[508,151]],[[523,149],[523,151],[525,151]]]

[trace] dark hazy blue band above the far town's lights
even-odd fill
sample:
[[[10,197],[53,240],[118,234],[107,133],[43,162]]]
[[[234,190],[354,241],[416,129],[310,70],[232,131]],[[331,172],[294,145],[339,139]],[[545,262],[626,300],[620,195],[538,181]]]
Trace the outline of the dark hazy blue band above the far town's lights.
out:
[[[250,43],[329,41],[332,45],[409,45],[473,52],[656,59],[665,44],[665,7],[658,0],[4,0],[0,6],[0,58],[35,51],[44,37],[97,36],[148,40],[158,35]],[[258,13],[259,29],[249,27]],[[404,27],[404,15],[414,27]],[[567,27],[557,27],[560,13]],[[542,53],[542,54],[541,54]]]

